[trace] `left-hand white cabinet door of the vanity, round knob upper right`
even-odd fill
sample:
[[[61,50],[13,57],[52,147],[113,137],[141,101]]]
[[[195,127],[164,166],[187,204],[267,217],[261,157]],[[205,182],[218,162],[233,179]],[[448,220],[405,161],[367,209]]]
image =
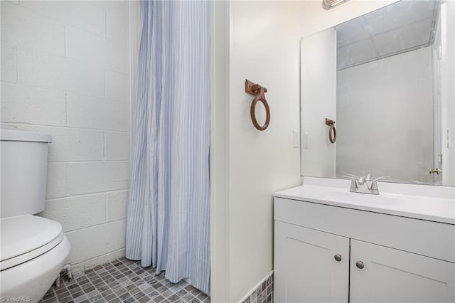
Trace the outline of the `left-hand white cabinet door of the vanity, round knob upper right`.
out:
[[[349,238],[274,226],[274,302],[348,302]]]

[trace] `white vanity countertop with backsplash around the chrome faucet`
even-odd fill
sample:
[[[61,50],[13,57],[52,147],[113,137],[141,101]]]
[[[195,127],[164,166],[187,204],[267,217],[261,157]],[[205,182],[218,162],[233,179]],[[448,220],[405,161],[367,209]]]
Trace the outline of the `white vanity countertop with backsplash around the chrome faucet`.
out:
[[[454,187],[381,182],[379,195],[350,193],[349,187],[348,180],[304,177],[304,185],[274,196],[455,225]]]

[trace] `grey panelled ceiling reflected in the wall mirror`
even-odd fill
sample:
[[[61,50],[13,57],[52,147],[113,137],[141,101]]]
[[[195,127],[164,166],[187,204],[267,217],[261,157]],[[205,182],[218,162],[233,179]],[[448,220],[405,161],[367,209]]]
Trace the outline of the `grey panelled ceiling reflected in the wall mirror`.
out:
[[[437,4],[402,0],[336,26],[338,70],[431,45]]]

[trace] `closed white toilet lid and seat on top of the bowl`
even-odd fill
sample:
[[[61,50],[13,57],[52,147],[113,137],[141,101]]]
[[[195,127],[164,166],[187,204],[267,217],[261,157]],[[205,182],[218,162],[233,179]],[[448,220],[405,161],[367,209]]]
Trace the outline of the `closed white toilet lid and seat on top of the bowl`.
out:
[[[60,223],[31,215],[1,218],[0,230],[0,271],[43,255],[64,237]]]

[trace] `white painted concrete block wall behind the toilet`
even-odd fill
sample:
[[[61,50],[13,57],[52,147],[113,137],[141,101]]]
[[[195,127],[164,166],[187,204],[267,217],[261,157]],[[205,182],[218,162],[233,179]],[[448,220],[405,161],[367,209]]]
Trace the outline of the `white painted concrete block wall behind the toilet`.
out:
[[[128,1],[1,1],[0,38],[1,127],[53,137],[40,216],[63,225],[80,269],[124,255]]]

